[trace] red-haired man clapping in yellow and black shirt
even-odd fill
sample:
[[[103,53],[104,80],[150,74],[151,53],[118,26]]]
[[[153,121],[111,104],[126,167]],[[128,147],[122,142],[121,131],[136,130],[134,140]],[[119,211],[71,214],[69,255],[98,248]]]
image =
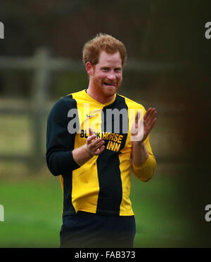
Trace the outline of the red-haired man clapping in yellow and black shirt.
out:
[[[49,114],[46,160],[63,187],[60,247],[133,247],[130,166],[141,181],[153,176],[156,111],[117,94],[126,58],[108,34],[88,41],[88,89],[60,98]]]

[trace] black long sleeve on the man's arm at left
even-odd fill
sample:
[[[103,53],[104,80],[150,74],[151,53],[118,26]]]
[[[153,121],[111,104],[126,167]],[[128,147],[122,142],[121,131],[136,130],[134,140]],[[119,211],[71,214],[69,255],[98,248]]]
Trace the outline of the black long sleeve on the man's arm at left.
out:
[[[46,130],[46,162],[54,176],[79,168],[72,157],[75,134],[68,132],[68,110],[76,108],[75,100],[60,98],[51,109]]]

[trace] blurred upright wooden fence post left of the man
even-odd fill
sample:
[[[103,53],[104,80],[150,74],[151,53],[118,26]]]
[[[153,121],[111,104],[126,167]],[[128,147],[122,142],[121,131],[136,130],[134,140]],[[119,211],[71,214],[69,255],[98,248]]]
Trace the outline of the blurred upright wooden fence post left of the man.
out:
[[[44,163],[44,128],[46,120],[46,102],[48,98],[49,52],[39,48],[34,54],[35,72],[32,79],[32,166],[39,168]]]

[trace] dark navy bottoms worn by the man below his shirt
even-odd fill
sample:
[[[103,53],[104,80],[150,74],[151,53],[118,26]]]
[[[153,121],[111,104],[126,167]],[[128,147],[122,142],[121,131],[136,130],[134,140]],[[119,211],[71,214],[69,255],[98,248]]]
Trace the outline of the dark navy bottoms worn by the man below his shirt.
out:
[[[63,218],[60,247],[133,247],[134,216],[103,216],[79,211]]]

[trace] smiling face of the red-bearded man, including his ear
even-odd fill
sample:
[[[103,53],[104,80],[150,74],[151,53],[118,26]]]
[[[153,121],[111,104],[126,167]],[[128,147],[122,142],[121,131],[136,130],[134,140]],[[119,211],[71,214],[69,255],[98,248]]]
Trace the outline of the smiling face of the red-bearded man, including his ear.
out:
[[[87,63],[89,93],[96,100],[112,100],[122,84],[122,59],[120,52],[101,51],[96,65]],[[101,101],[100,101],[101,102]],[[102,103],[102,102],[101,102]]]

